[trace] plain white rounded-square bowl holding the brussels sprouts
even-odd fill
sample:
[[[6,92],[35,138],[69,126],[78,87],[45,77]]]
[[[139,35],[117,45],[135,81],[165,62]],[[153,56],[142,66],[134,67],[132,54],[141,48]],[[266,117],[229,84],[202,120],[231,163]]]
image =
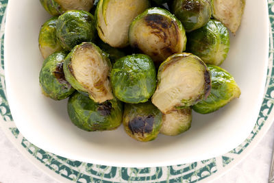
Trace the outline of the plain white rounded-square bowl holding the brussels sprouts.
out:
[[[49,14],[39,1],[10,0],[5,26],[5,78],[12,117],[23,136],[54,154],[118,167],[155,167],[213,158],[233,149],[250,134],[264,94],[269,51],[266,1],[246,3],[242,25],[231,38],[222,64],[242,90],[221,110],[193,112],[192,127],[182,135],[159,135],[140,143],[123,126],[110,132],[85,132],[71,123],[66,100],[53,101],[41,93],[38,75],[40,26]]]

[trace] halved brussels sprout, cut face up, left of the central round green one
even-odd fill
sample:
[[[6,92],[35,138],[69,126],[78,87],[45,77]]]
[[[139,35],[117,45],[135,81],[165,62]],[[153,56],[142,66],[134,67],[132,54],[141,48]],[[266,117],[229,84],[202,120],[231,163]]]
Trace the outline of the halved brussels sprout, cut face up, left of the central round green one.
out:
[[[113,99],[108,56],[92,42],[77,45],[64,61],[64,75],[73,88],[95,102]]]

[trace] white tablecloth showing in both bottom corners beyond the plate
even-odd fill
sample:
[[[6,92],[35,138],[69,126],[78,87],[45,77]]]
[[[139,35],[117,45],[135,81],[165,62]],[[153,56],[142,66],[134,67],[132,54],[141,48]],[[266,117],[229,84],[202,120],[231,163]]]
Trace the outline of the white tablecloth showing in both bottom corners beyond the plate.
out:
[[[236,167],[212,183],[266,183],[274,145],[274,124],[262,141]],[[0,183],[58,183],[37,169],[5,137],[0,129]]]

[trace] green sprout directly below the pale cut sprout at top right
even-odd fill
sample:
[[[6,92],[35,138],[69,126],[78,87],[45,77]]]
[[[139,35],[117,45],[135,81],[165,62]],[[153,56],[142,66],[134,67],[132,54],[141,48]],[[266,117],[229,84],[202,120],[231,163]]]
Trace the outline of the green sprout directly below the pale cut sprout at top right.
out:
[[[229,51],[229,32],[221,22],[210,20],[205,27],[188,34],[187,47],[206,64],[220,65]]]

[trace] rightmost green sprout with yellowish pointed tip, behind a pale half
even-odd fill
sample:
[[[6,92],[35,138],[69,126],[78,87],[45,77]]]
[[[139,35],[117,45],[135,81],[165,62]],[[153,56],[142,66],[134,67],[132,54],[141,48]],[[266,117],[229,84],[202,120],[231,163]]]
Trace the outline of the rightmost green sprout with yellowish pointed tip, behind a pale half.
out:
[[[208,65],[211,73],[212,89],[207,99],[192,106],[193,110],[201,114],[208,114],[219,110],[234,98],[240,97],[240,88],[232,75],[219,66]]]

